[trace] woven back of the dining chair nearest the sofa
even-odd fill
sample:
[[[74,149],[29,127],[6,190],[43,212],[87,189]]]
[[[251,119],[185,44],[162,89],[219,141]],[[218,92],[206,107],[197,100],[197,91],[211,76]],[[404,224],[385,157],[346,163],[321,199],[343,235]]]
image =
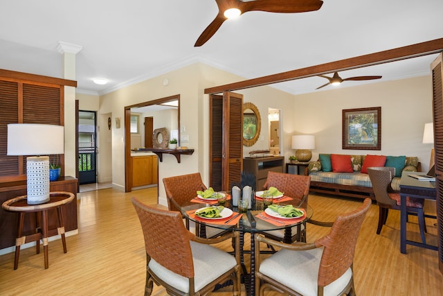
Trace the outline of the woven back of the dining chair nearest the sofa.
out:
[[[276,173],[270,171],[268,172],[268,177],[266,179],[266,183],[264,183],[263,189],[275,187],[290,198],[302,200],[302,198],[305,198],[308,195],[310,185],[310,176]]]

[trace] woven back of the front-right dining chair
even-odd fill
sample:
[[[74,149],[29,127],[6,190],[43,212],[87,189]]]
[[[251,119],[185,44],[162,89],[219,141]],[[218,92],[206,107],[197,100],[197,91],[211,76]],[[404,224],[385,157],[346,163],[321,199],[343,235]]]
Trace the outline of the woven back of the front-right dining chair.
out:
[[[325,247],[318,270],[318,286],[331,284],[352,267],[357,238],[370,205],[370,198],[366,198],[359,209],[338,216],[331,232],[315,242]]]

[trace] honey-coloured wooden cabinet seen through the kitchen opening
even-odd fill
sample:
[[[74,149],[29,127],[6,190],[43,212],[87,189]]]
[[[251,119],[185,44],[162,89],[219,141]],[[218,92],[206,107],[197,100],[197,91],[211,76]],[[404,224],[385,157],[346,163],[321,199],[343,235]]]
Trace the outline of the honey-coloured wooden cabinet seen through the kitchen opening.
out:
[[[132,157],[132,186],[157,184],[157,156],[143,155]]]

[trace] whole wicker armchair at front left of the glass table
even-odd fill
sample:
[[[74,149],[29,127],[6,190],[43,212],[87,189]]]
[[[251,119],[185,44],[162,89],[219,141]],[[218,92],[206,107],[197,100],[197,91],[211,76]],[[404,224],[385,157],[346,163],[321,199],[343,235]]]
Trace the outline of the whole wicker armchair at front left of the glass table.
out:
[[[169,295],[205,295],[217,284],[233,282],[233,295],[240,295],[239,234],[200,238],[183,225],[177,211],[156,209],[131,198],[141,223],[146,249],[145,296],[153,284]],[[235,256],[210,244],[235,241]]]

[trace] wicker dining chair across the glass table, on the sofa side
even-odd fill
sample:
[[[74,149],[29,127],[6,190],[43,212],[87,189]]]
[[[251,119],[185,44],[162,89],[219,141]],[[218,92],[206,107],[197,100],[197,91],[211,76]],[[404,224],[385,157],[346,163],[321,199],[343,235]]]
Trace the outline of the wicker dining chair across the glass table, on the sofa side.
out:
[[[263,189],[269,189],[269,187],[275,187],[279,191],[283,192],[284,195],[290,198],[295,198],[293,200],[294,207],[300,207],[303,203],[307,202],[307,197],[309,194],[309,186],[311,184],[311,177],[305,175],[293,175],[287,173],[276,173],[268,172],[268,177],[266,183],[264,183]],[[300,200],[300,202],[298,202]],[[257,223],[262,223],[258,221]],[[284,243],[293,243],[294,241],[306,241],[306,223],[300,225],[289,227],[287,229],[273,230],[270,232],[263,232],[264,236],[273,238],[277,241],[284,240],[284,232],[291,232],[291,241],[284,241]]]

